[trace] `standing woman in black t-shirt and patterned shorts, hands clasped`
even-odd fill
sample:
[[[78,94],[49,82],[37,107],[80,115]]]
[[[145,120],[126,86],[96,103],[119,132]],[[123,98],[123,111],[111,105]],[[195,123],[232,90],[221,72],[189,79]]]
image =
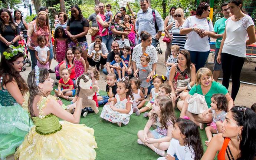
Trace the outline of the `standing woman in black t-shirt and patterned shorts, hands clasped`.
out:
[[[89,22],[82,15],[81,9],[77,6],[71,6],[71,18],[68,20],[66,31],[69,36],[68,47],[79,46],[82,50],[82,57],[85,59],[86,68],[89,68],[87,61],[88,43],[86,34],[89,30]]]

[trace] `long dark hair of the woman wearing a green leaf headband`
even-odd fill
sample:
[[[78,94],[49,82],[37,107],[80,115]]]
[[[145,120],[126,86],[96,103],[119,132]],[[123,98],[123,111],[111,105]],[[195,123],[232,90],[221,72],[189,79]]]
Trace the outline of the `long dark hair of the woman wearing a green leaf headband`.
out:
[[[9,48],[6,51],[7,53],[10,53],[10,51],[12,50],[12,48]],[[20,92],[22,93],[22,95],[24,95],[27,91],[29,91],[29,88],[27,87],[27,84],[25,80],[21,77],[20,73],[13,68],[13,61],[16,61],[20,57],[24,57],[24,53],[18,52],[9,60],[5,59],[5,56],[2,55],[0,62],[0,76],[3,77],[3,86],[7,83],[12,82],[14,79],[20,89]]]

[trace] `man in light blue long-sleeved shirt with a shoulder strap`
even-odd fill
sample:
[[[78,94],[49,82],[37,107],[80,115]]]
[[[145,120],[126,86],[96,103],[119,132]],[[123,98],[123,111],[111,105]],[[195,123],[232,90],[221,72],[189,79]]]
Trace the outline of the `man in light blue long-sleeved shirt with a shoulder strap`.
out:
[[[161,37],[164,30],[164,21],[156,10],[154,10],[155,16],[153,16],[152,9],[148,7],[148,0],[140,0],[140,6],[141,10],[137,13],[135,23],[137,37],[139,37],[141,31],[147,31],[152,35],[152,46],[156,47],[156,41]],[[157,23],[158,31],[155,29],[155,23]]]

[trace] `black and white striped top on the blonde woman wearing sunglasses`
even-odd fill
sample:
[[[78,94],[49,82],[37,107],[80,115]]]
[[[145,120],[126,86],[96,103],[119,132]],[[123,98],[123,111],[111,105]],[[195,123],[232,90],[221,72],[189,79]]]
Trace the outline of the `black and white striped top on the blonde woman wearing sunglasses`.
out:
[[[184,46],[186,43],[186,35],[181,35],[180,34],[180,29],[181,26],[179,28],[175,27],[175,21],[173,22],[173,27],[171,29],[172,33],[173,33],[173,43],[172,45],[178,45],[180,47],[180,50],[184,50]]]

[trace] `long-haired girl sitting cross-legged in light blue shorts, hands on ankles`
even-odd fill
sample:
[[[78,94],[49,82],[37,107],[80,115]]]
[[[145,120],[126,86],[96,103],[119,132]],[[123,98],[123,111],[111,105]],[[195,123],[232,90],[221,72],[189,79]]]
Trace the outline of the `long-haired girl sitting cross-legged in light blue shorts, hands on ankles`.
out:
[[[170,146],[171,132],[175,120],[173,103],[170,97],[156,97],[152,106],[152,114],[144,130],[140,130],[137,133],[139,138],[137,143],[150,147],[155,153],[164,157],[166,155],[165,150]],[[157,125],[157,129],[150,130],[153,123]]]

